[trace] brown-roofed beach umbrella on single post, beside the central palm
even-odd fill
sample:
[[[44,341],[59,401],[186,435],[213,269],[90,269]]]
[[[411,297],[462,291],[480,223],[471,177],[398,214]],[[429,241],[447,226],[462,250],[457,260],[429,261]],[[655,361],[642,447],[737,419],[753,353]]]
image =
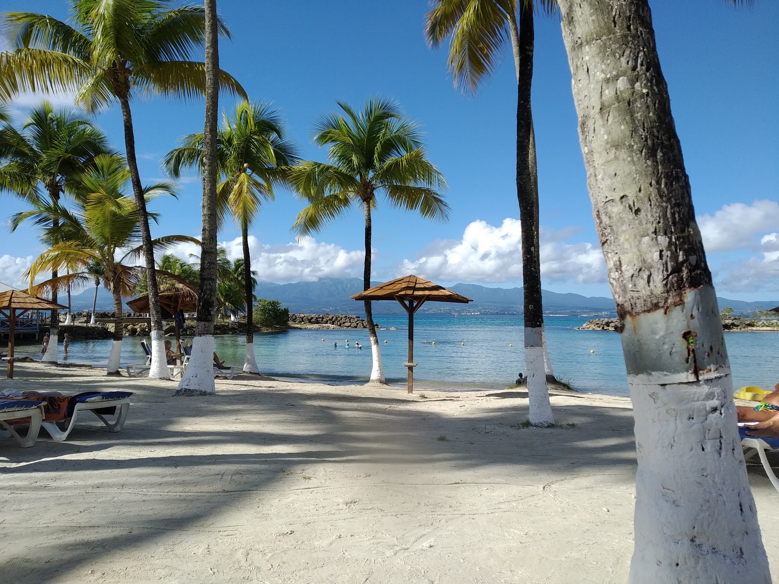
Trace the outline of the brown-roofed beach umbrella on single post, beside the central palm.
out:
[[[397,280],[390,280],[351,296],[352,300],[397,300],[408,313],[408,362],[403,366],[408,368],[409,393],[414,391],[414,312],[419,310],[427,301],[434,302],[459,302],[467,304],[473,302],[471,298],[464,297],[452,290],[432,283],[419,276],[404,276]]]

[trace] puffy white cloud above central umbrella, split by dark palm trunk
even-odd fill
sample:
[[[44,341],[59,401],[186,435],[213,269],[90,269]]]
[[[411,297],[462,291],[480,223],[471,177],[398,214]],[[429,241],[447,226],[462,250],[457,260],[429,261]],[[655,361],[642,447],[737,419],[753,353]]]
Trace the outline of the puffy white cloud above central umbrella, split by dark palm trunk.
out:
[[[520,234],[520,221],[510,217],[499,227],[476,220],[467,225],[460,241],[439,242],[416,260],[404,259],[400,275],[488,283],[517,280],[522,276]],[[605,282],[601,249],[590,243],[566,243],[571,234],[571,229],[541,229],[541,277],[555,282]]]

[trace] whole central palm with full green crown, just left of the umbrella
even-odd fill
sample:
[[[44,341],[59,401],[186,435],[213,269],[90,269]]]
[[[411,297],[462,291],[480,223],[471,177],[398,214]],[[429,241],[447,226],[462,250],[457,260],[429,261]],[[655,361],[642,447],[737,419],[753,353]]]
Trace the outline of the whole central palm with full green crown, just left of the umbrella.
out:
[[[294,223],[298,236],[322,230],[352,206],[365,215],[365,269],[363,287],[371,287],[371,212],[377,195],[390,206],[418,211],[432,220],[446,220],[449,206],[443,199],[446,181],[428,160],[418,125],[404,118],[400,106],[372,98],[363,111],[337,102],[340,113],[315,122],[314,142],[330,146],[330,164],[301,162],[291,168],[289,180],[310,203]],[[371,302],[365,301],[365,321],[371,339],[371,382],[384,383],[379,337],[376,336]]]

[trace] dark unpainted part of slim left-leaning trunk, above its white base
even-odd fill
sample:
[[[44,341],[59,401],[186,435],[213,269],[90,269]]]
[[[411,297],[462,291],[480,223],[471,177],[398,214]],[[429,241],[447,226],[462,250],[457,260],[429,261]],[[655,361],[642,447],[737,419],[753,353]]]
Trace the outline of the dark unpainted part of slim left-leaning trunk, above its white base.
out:
[[[151,329],[153,331],[161,331],[162,312],[160,311],[160,290],[157,288],[157,271],[154,265],[154,248],[151,243],[149,213],[146,211],[146,199],[143,197],[143,185],[141,185],[141,178],[138,173],[136,137],[132,129],[132,113],[130,112],[130,102],[126,94],[124,97],[119,95],[119,104],[122,107],[122,122],[125,126],[125,150],[127,153],[127,167],[130,171],[132,194],[135,196],[136,205],[138,206],[141,242],[143,243],[143,261],[146,263],[146,287],[149,294]]]

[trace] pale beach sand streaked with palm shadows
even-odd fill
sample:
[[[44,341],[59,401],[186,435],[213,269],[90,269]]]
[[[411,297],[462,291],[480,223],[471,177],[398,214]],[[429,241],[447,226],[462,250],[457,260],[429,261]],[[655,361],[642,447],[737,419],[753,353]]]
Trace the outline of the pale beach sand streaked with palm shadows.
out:
[[[122,432],[0,442],[2,582],[625,582],[635,453],[630,403],[217,380],[16,364],[0,388],[129,389]],[[427,396],[427,399],[421,397]],[[97,420],[97,418],[94,418]],[[446,440],[439,440],[445,436]],[[779,561],[779,495],[749,467]]]

